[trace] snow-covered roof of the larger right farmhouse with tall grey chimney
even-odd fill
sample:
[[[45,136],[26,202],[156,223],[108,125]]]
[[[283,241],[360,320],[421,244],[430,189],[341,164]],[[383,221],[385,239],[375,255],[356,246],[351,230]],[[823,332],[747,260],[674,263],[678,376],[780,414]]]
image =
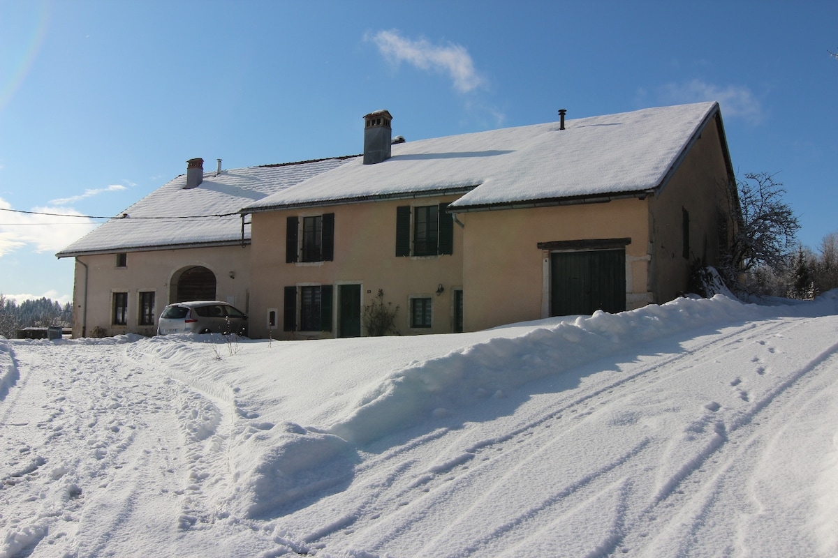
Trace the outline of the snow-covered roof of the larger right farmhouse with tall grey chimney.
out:
[[[555,202],[663,187],[718,113],[715,102],[526,125],[392,146],[250,202],[258,212],[365,200],[464,194],[454,211]]]

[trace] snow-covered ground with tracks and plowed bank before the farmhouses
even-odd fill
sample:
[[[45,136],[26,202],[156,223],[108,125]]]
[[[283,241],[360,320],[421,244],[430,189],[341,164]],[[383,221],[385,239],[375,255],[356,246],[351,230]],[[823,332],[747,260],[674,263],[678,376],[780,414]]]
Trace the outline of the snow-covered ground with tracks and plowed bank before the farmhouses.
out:
[[[460,335],[0,338],[2,556],[835,556],[838,293]]]

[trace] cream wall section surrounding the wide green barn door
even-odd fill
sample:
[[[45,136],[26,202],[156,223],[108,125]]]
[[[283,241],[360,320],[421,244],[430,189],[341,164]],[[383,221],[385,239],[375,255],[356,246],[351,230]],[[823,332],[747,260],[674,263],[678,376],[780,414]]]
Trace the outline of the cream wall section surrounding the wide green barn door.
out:
[[[626,246],[627,305],[648,304],[647,202],[460,213],[463,222],[464,329],[482,330],[550,311],[550,252],[538,243],[631,238]]]

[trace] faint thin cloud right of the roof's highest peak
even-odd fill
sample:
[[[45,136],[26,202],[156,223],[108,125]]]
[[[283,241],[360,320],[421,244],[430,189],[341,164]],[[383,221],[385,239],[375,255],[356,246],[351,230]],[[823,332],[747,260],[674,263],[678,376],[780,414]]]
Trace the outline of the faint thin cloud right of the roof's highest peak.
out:
[[[763,120],[763,108],[751,90],[742,85],[719,86],[693,79],[680,84],[666,84],[660,90],[667,103],[695,103],[716,100],[726,117],[743,118],[758,124]]]

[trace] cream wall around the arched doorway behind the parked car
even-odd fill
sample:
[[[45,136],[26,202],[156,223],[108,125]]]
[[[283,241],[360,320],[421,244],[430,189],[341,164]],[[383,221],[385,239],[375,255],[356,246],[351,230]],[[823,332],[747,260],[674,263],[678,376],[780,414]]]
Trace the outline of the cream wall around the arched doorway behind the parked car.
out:
[[[124,268],[116,267],[115,253],[79,256],[75,263],[73,336],[82,336],[85,320],[85,267],[80,262],[88,267],[85,335],[90,336],[96,326],[103,328],[106,335],[129,332],[153,335],[157,331],[156,319],[153,326],[138,324],[139,293],[154,291],[154,313],[159,317],[169,303],[172,275],[185,267],[202,265],[210,269],[215,274],[215,297],[220,300],[232,297],[233,304],[247,312],[249,253],[249,247],[241,246],[128,252]],[[230,272],[235,278],[230,277]],[[116,292],[128,293],[127,325],[111,325],[112,293]]]

